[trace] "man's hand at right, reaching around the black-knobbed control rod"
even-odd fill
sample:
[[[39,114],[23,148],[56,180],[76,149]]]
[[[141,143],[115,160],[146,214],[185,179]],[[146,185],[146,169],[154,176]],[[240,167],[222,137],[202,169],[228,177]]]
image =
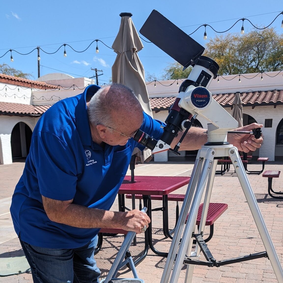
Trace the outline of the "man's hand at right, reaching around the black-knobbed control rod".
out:
[[[250,125],[237,128],[234,131],[250,132],[253,129],[261,127],[263,127],[263,125],[258,123],[252,123]],[[263,142],[262,137],[256,139],[254,135],[249,134],[228,134],[227,140],[235,147],[237,147],[239,151],[244,152],[255,151],[257,148],[261,147],[261,143]]]

